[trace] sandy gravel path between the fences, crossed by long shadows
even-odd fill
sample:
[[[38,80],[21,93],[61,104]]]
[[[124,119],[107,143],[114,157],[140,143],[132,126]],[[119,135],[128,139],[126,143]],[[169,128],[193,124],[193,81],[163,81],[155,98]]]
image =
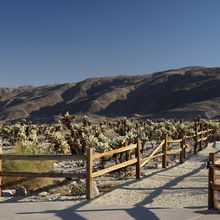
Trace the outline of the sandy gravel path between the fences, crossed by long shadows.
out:
[[[155,208],[206,208],[208,170],[205,162],[210,152],[219,150],[220,143],[209,144],[183,164],[166,169],[148,169],[141,180],[128,180],[92,203]]]

